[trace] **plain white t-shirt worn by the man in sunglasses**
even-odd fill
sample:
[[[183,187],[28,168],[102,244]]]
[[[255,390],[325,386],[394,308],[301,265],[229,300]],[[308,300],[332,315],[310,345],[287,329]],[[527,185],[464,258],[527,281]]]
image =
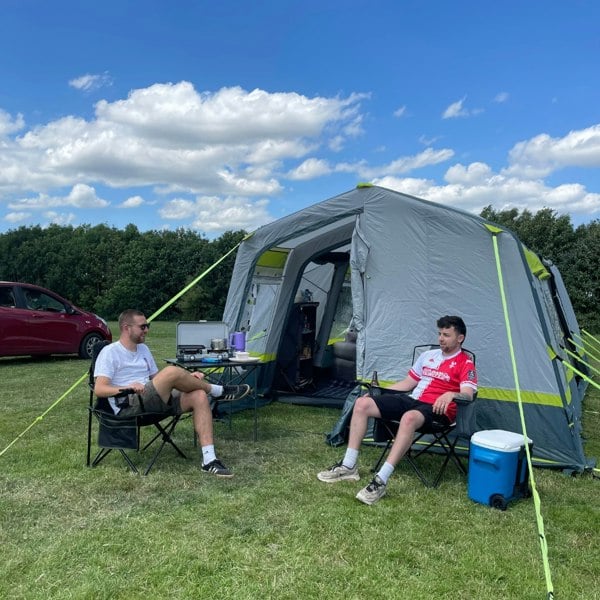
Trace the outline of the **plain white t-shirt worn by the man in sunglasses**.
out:
[[[94,368],[94,377],[107,377],[112,385],[118,387],[127,387],[135,382],[146,384],[156,373],[158,367],[146,344],[138,344],[136,351],[132,352],[119,341],[101,350]],[[120,409],[114,399],[109,398],[109,402],[118,414]]]

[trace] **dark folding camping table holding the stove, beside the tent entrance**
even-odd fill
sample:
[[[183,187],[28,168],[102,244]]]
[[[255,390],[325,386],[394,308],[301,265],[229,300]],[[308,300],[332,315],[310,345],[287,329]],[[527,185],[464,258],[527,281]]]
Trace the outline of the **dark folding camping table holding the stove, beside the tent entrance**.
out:
[[[250,393],[247,398],[254,404],[254,441],[258,439],[258,379],[260,369],[265,363],[258,362],[237,362],[235,360],[224,360],[220,362],[202,362],[198,361],[180,361],[176,358],[166,358],[165,362],[171,365],[177,365],[188,371],[202,371],[206,379],[211,383],[218,385],[240,385],[247,383],[250,386]],[[231,403],[229,403],[229,425],[231,426]]]

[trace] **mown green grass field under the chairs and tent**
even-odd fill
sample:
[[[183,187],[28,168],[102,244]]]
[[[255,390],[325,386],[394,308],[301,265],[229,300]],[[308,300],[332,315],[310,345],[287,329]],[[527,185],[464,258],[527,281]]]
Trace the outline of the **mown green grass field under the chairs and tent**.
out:
[[[115,327],[113,326],[113,332]],[[171,356],[175,326],[148,344]],[[148,477],[118,455],[85,467],[87,388],[43,419],[88,367],[75,358],[0,360],[0,598],[38,599],[542,599],[534,504],[506,512],[467,498],[449,469],[435,490],[401,464],[387,496],[354,499],[363,481],[334,486],[316,472],[343,449],[324,443],[338,411],[274,403],[216,423],[217,450],[235,471],[199,471],[190,420],[176,432],[193,460],[166,449]],[[587,454],[600,455],[600,394],[585,405]],[[430,460],[437,461],[433,457]],[[555,598],[600,598],[599,484],[536,469]]]

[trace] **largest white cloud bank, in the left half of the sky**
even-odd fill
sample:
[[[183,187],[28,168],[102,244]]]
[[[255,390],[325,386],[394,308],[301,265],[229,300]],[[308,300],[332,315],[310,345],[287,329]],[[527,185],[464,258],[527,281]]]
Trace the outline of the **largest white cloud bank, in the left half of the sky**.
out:
[[[101,100],[95,119],[68,116],[10,140],[0,155],[0,197],[24,185],[47,193],[82,180],[113,188],[272,194],[281,190],[277,178],[285,162],[361,134],[365,97],[239,87],[199,93],[185,81],[152,85],[124,100]],[[4,121],[13,123],[6,115]]]

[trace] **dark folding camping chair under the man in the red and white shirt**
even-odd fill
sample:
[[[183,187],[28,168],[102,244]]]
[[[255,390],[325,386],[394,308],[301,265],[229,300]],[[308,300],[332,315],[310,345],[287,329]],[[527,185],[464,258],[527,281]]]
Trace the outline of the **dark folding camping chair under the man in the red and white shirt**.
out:
[[[439,348],[439,346],[437,344],[415,346],[413,350],[412,364],[415,363],[416,358],[422,352],[426,350],[432,350],[434,348]],[[471,357],[473,362],[475,362],[475,354],[466,348],[463,348],[463,350]],[[387,392],[389,390],[382,389],[381,391]],[[454,401],[458,406],[456,421],[454,423],[447,424],[434,420],[430,426],[424,426],[421,429],[418,429],[415,433],[412,446],[404,455],[404,458],[412,467],[417,477],[427,487],[435,488],[439,485],[442,476],[444,475],[450,462],[452,462],[463,475],[467,474],[467,469],[460,456],[456,452],[456,446],[460,439],[469,439],[473,433],[473,405],[475,402],[475,397],[470,399],[464,394],[457,393],[454,396]],[[377,472],[385,460],[385,457],[389,452],[392,443],[394,442],[399,425],[400,422],[397,420],[387,421],[384,419],[375,419],[373,440],[375,443],[383,443],[385,445],[379,460],[373,467],[373,472]],[[434,477],[428,477],[425,474],[425,471],[421,468],[420,461],[417,460],[422,454],[430,450],[432,452],[444,455],[444,460]]]

